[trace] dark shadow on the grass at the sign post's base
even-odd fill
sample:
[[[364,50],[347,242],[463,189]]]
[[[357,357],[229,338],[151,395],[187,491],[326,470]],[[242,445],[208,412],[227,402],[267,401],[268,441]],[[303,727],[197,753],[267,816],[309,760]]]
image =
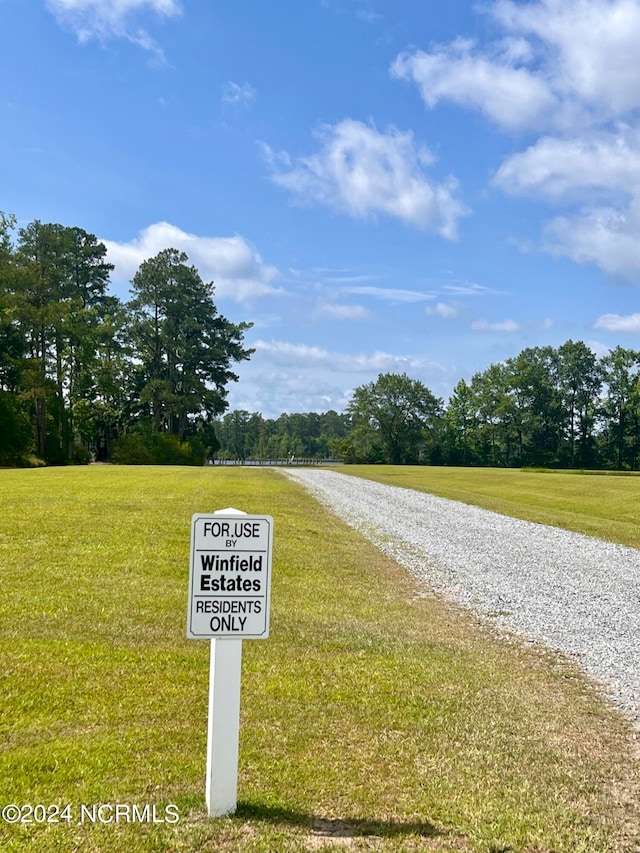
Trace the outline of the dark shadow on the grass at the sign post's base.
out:
[[[257,802],[239,802],[235,816],[244,820],[300,826],[308,829],[313,835],[326,838],[354,838],[358,836],[392,838],[402,835],[435,838],[449,834],[428,821],[401,823],[393,820],[367,820],[366,818],[329,819]]]

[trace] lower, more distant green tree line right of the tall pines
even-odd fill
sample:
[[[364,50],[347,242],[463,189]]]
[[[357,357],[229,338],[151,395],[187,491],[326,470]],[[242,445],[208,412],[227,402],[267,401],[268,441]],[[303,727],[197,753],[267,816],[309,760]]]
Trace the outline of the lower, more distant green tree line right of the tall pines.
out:
[[[445,405],[419,380],[381,374],[344,414],[233,411],[216,424],[227,459],[347,463],[640,467],[640,352],[598,358],[582,341],[530,347],[461,379]]]

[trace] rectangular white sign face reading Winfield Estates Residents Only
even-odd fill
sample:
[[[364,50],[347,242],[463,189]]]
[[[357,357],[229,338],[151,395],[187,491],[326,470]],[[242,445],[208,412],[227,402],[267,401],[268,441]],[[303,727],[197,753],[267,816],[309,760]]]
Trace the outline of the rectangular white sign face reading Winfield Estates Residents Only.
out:
[[[269,636],[272,548],[270,515],[193,516],[187,637]]]

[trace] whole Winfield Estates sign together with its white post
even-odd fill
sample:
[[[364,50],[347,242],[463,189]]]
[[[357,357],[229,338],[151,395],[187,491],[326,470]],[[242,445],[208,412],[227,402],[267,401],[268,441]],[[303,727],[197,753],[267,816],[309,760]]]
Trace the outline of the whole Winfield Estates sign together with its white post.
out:
[[[269,636],[273,518],[223,509],[191,524],[187,637],[211,639],[206,798],[236,810],[242,640]]]

